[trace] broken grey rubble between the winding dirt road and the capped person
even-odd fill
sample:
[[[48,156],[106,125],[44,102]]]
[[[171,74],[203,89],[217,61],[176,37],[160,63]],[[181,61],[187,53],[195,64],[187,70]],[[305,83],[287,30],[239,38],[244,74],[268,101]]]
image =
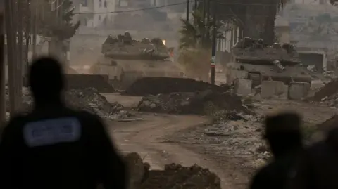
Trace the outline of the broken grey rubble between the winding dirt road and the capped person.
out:
[[[220,164],[239,164],[237,169],[249,176],[271,157],[262,140],[262,117],[237,115],[233,119],[227,112],[220,114],[214,124],[181,131],[182,134],[175,133],[167,139],[170,143],[180,143],[190,150],[209,154]]]

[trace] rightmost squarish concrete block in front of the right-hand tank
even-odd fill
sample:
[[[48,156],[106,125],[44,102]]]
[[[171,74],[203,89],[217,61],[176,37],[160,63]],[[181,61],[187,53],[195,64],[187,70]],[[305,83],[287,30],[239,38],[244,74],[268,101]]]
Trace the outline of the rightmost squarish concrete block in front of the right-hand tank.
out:
[[[289,99],[301,100],[308,96],[308,92],[311,89],[311,85],[306,82],[291,82],[289,84]]]

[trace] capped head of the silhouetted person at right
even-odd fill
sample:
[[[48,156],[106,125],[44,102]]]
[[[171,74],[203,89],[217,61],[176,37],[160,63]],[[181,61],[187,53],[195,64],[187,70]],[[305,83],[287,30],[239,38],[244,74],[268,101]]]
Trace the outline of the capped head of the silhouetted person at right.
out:
[[[293,112],[266,117],[264,138],[275,156],[301,147],[301,117]]]

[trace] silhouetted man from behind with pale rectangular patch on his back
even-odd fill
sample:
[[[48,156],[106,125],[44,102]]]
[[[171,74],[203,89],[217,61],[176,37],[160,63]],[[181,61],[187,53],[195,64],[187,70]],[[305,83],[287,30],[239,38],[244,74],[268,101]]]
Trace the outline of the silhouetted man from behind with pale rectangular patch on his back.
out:
[[[101,119],[65,107],[60,63],[35,60],[29,84],[34,109],[13,117],[2,135],[0,188],[125,189],[125,164]]]

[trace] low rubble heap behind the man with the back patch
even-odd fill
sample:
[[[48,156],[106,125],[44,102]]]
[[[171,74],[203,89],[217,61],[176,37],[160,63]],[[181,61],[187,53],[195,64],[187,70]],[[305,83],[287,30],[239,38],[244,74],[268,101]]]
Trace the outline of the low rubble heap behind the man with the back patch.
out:
[[[22,110],[28,111],[32,108],[32,96],[27,89],[23,90],[21,100]],[[65,92],[65,103],[77,110],[87,110],[96,113],[100,117],[108,119],[122,119],[130,117],[130,113],[119,103],[109,103],[96,89],[70,89]],[[6,112],[9,112],[8,91],[6,91]]]

